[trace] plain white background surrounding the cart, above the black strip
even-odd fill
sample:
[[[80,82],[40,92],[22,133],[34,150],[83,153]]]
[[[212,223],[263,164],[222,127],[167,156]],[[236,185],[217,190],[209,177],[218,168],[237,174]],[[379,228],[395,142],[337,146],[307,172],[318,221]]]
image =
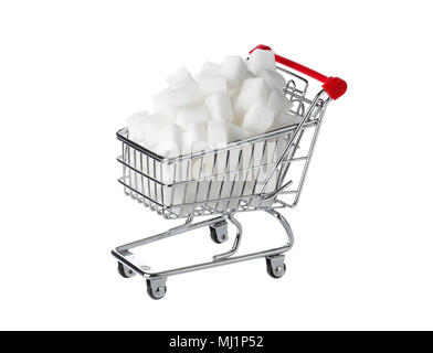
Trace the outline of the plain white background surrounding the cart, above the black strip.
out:
[[[433,329],[430,4],[2,1],[0,328]],[[109,252],[178,223],[124,196],[115,132],[179,66],[260,43],[349,84],[285,213],[287,274],[255,260],[176,276],[154,301]],[[240,221],[245,245],[283,239],[264,214]],[[202,232],[149,256],[226,246]]]

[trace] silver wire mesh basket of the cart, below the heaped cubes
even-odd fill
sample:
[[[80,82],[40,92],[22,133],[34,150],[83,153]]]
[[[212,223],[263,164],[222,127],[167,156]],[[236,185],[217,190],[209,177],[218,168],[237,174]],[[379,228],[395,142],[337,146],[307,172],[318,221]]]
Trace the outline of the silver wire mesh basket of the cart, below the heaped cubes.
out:
[[[283,92],[293,103],[289,114],[302,121],[310,110],[300,129],[293,125],[224,148],[163,158],[131,141],[124,128],[117,138],[122,141],[119,182],[125,193],[165,218],[179,218],[191,213],[200,216],[268,207],[275,203],[275,192],[289,180],[291,190],[282,192],[294,195],[293,206],[310,156],[310,149],[302,146],[311,147],[315,141],[325,101],[318,99],[313,105],[306,98],[307,81],[277,69],[286,76]]]

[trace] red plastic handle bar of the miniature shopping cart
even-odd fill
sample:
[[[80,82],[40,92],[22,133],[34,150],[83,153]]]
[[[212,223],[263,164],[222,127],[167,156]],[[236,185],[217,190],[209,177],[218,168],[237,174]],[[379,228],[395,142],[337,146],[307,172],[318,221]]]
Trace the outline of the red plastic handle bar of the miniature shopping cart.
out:
[[[250,52],[250,54],[252,52],[254,52],[256,49],[264,50],[264,51],[272,51],[272,49],[270,46],[260,44],[256,47],[254,47]],[[296,69],[299,73],[303,73],[309,77],[313,77],[313,78],[323,83],[321,87],[328,94],[328,96],[331,97],[332,99],[338,99],[347,90],[347,83],[339,77],[327,77],[327,76],[318,73],[317,71],[314,71],[307,66],[295,63],[292,60],[279,56],[277,54],[275,54],[275,62],[277,62],[278,64],[285,65],[287,67],[291,67],[293,69]]]

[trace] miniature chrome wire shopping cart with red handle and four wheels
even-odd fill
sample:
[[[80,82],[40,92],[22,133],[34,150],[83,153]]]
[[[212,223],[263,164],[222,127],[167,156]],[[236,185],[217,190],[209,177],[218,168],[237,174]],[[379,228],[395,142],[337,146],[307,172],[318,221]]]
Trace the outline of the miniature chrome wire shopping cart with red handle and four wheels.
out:
[[[256,49],[271,50],[265,45]],[[277,210],[292,208],[298,203],[326,107],[331,99],[345,94],[347,85],[338,77],[324,76],[279,55],[275,55],[275,60],[284,65],[277,69],[286,78],[287,84],[282,89],[293,103],[289,114],[298,117],[296,125],[215,150],[176,158],[163,158],[135,143],[128,138],[127,128],[117,132],[122,142],[118,161],[123,165],[119,182],[125,193],[167,220],[187,218],[180,226],[112,252],[123,277],[138,274],[146,278],[151,298],[160,299],[166,295],[169,276],[255,258],[266,259],[270,276],[279,278],[285,274],[284,253],[293,247],[294,236]],[[313,98],[307,98],[308,81],[288,68],[321,82],[321,89]],[[282,195],[285,201],[279,199]],[[287,243],[277,248],[234,256],[242,238],[242,226],[234,215],[251,211],[263,211],[276,218],[286,232]],[[193,222],[198,216],[210,215],[216,216]],[[210,228],[213,242],[224,243],[229,240],[228,223],[236,229],[233,245],[229,252],[213,256],[208,263],[150,271],[149,265],[130,252],[202,227]]]

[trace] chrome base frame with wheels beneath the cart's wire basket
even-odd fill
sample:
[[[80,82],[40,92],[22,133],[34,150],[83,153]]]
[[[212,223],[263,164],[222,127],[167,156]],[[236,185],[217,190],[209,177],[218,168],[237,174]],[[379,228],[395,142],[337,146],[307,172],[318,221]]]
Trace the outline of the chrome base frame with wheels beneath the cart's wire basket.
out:
[[[281,278],[286,271],[286,266],[284,264],[285,256],[283,254],[288,252],[294,245],[293,232],[288,222],[281,213],[271,207],[264,208],[263,211],[276,218],[283,226],[287,235],[287,242],[285,245],[262,252],[233,256],[240,247],[243,231],[241,223],[233,217],[234,213],[225,213],[221,214],[218,217],[196,223],[192,222],[193,217],[190,216],[188,217],[187,222],[180,226],[173,227],[171,229],[168,229],[167,232],[154,236],[149,236],[133,243],[118,246],[116,249],[112,250],[112,254],[118,261],[118,271],[120,276],[125,278],[130,278],[135,275],[139,275],[146,279],[147,292],[152,299],[163,298],[167,292],[166,281],[169,276],[187,274],[196,270],[235,264],[262,257],[266,258],[266,268],[268,275],[273,278]],[[151,272],[149,271],[150,267],[146,265],[141,259],[135,257],[135,255],[130,252],[130,249],[133,248],[205,226],[210,228],[211,238],[213,242],[218,244],[224,243],[229,239],[228,222],[230,222],[236,228],[236,236],[234,238],[233,246],[226,253],[214,255],[213,259],[208,263]]]

